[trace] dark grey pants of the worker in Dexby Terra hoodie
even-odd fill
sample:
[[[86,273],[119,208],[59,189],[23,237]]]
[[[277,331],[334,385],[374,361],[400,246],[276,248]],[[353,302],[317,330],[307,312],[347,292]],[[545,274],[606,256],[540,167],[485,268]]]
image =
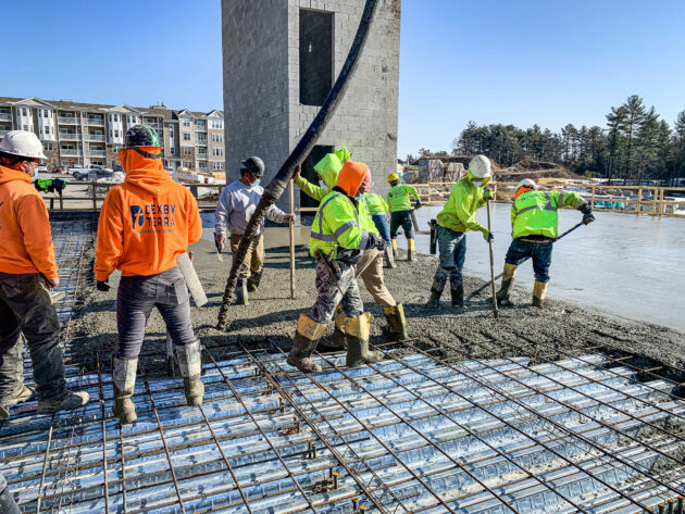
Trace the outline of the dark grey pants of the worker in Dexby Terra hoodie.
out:
[[[158,275],[122,277],[116,294],[119,359],[138,356],[153,306],[162,314],[174,344],[195,342],[190,296],[180,269],[172,267]]]

